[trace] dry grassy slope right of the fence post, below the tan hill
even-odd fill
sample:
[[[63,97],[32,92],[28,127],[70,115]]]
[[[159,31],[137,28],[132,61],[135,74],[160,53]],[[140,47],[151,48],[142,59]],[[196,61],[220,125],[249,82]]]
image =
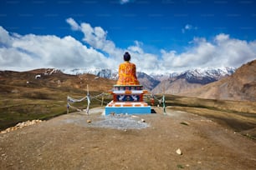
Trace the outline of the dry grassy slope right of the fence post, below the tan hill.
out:
[[[166,96],[166,110],[192,112],[256,139],[256,103]]]

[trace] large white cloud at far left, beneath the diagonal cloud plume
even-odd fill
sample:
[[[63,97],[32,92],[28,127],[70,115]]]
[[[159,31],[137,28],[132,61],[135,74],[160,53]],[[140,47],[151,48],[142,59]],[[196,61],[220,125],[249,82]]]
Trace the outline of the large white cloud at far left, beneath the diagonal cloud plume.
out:
[[[1,28],[0,28],[1,30]],[[86,47],[74,37],[37,36],[28,34],[15,36],[3,33],[0,39],[0,69],[28,70],[38,67],[109,67],[108,60],[92,47]]]

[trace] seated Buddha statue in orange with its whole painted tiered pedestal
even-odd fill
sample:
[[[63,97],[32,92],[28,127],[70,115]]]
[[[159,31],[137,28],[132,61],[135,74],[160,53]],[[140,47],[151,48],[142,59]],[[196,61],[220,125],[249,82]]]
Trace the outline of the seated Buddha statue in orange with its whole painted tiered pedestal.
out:
[[[149,114],[151,106],[143,101],[147,92],[136,77],[136,65],[131,63],[129,52],[124,54],[125,62],[119,66],[119,78],[111,91],[113,100],[105,107],[105,115],[110,114]]]

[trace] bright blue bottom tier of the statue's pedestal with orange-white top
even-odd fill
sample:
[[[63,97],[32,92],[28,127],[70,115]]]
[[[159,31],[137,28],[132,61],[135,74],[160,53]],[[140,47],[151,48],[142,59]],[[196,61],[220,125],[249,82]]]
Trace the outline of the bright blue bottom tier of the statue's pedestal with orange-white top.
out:
[[[105,107],[105,115],[115,114],[150,114],[151,107],[146,102],[110,102]]]

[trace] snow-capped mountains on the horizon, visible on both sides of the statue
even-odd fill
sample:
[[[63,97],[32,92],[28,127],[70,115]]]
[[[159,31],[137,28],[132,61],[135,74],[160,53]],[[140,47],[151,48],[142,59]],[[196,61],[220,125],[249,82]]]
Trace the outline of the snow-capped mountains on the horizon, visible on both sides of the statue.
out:
[[[87,68],[75,68],[75,69],[62,69],[62,72],[66,74],[84,74],[90,73],[98,77],[105,77],[113,80],[117,80],[118,71],[113,69],[87,69]],[[211,68],[211,69],[192,69],[185,72],[170,72],[166,74],[151,74],[148,75],[145,72],[137,72],[137,77],[147,90],[152,90],[161,84],[161,82],[171,81],[174,82],[178,79],[185,80],[187,83],[204,85],[209,82],[215,82],[222,77],[229,76],[235,72],[233,67],[221,67],[221,68]],[[194,86],[193,86],[194,87]]]

